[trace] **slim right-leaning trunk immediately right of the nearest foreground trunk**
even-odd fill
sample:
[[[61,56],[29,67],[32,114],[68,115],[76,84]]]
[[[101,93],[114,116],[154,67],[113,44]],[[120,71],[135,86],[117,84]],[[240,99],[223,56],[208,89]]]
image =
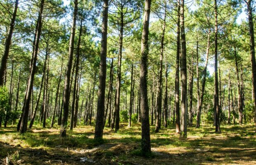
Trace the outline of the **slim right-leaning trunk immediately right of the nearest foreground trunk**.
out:
[[[166,6],[166,5],[165,5]],[[162,111],[162,74],[163,74],[163,54],[164,54],[164,35],[166,27],[166,7],[164,12],[164,24],[162,25],[161,50],[160,50],[160,66],[158,76],[157,100],[156,100],[156,127],[155,132],[159,132],[161,127],[161,111]]]

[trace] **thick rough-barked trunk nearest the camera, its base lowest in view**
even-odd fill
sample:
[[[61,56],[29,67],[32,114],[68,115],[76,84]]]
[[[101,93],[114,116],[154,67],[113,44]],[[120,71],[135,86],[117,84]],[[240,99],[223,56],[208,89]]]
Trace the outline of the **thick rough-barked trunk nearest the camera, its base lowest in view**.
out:
[[[151,152],[149,130],[149,108],[147,104],[147,56],[149,52],[149,16],[151,0],[145,0],[143,30],[141,39],[141,62],[140,62],[140,103],[141,103],[141,150],[143,154]]]

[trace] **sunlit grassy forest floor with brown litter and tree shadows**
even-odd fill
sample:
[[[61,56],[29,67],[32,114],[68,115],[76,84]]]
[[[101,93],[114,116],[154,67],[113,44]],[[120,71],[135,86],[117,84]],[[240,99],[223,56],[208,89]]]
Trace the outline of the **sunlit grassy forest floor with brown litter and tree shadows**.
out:
[[[152,155],[140,156],[141,128],[121,123],[118,133],[104,129],[104,141],[95,141],[94,127],[78,126],[59,138],[59,127],[36,125],[26,134],[16,127],[0,128],[0,165],[256,165],[255,126],[225,125],[215,133],[212,125],[188,127],[179,139],[175,127],[151,130]]]

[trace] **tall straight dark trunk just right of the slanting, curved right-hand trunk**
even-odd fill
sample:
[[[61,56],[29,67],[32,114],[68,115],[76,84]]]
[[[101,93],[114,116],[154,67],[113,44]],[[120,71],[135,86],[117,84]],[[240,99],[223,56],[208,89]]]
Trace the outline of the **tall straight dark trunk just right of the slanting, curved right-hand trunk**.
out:
[[[214,77],[215,77],[215,90],[214,90],[214,112],[215,112],[215,132],[220,132],[220,120],[219,120],[219,94],[218,94],[218,12],[217,12],[217,0],[214,0],[214,12],[215,12],[215,49],[214,49]]]

